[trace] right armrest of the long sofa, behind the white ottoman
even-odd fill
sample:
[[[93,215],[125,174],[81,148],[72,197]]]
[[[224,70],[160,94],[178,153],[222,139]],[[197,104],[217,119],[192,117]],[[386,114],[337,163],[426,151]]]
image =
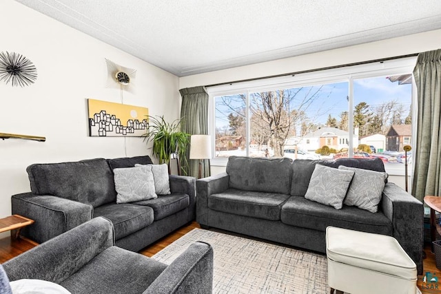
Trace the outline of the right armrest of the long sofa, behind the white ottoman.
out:
[[[416,263],[422,274],[422,251],[424,246],[424,207],[420,200],[388,182],[382,195],[382,211],[393,226],[396,238],[404,251]]]

